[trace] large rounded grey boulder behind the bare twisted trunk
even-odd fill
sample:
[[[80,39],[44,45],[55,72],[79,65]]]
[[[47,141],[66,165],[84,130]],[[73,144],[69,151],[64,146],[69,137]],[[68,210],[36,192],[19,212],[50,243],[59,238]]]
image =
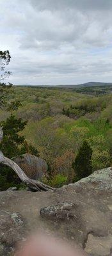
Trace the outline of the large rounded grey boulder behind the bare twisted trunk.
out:
[[[13,159],[29,178],[40,180],[47,173],[47,163],[40,157],[31,154],[23,154]]]

